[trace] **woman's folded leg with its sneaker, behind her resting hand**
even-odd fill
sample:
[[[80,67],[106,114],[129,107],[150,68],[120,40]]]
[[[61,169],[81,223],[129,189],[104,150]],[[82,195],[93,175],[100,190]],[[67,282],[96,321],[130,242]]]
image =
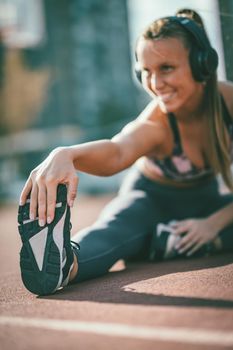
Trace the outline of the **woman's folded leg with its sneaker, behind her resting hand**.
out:
[[[173,194],[172,194],[173,192]],[[177,192],[177,193],[175,193]],[[171,228],[167,226],[171,220],[183,220],[186,218],[204,218],[215,211],[232,203],[233,195],[221,195],[218,191],[217,182],[211,181],[202,187],[180,190],[163,191],[160,198],[160,209],[163,210],[162,230],[154,230],[152,243],[150,245],[150,258],[161,260],[162,258],[174,258],[180,256],[175,249],[178,237],[171,234]],[[166,202],[166,203],[165,203]],[[225,228],[219,233],[214,242],[203,246],[196,256],[211,254],[217,250],[233,251],[233,225]],[[183,255],[186,256],[185,254]]]

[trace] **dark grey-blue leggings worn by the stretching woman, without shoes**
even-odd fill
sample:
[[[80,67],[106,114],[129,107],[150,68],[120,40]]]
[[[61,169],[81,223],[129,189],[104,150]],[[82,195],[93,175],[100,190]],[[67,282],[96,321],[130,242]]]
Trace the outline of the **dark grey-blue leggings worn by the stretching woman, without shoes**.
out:
[[[232,201],[232,194],[219,193],[216,179],[183,189],[155,183],[131,170],[98,220],[72,237],[81,247],[72,283],[105,274],[119,259],[147,259],[158,223],[206,217]],[[224,249],[233,251],[233,225],[220,236]]]

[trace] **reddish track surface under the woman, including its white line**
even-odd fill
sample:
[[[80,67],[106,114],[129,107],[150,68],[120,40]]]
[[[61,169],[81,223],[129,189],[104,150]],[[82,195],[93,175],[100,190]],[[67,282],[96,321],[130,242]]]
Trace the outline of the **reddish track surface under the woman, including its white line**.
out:
[[[109,199],[80,198],[73,231]],[[20,279],[16,212],[0,211],[1,349],[233,349],[233,254],[119,262],[102,278],[36,297]]]

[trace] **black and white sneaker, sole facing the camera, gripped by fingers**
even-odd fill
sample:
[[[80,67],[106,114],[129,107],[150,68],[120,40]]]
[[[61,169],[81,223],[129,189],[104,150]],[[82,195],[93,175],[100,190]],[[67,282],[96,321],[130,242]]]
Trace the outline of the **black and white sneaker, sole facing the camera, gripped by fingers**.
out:
[[[19,206],[18,230],[22,240],[20,268],[22,281],[32,293],[48,295],[68,284],[74,263],[73,250],[77,243],[70,241],[70,207],[67,188],[58,185],[55,217],[51,224],[40,227],[38,218],[29,218],[30,199]]]

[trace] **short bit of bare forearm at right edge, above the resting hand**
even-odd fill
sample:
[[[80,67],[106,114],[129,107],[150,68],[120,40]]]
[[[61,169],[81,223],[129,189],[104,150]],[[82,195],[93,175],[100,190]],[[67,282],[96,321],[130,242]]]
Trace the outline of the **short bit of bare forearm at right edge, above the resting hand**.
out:
[[[217,232],[233,223],[233,203],[216,211],[208,218],[211,225]]]

